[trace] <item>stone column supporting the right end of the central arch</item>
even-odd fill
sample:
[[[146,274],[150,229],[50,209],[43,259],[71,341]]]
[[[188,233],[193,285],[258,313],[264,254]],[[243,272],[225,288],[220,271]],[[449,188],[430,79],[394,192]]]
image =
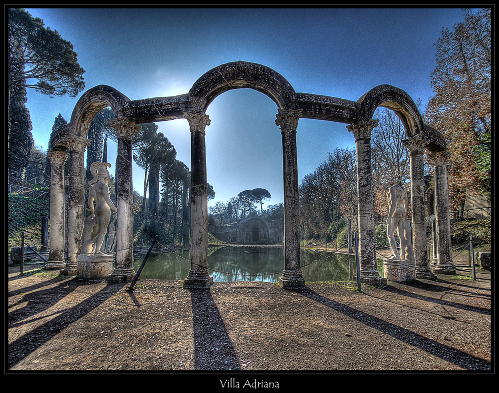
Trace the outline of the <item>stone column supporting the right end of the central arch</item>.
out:
[[[278,278],[283,288],[305,285],[300,264],[300,211],[296,128],[300,110],[279,109],[275,124],[281,129],[284,175],[284,270]]]

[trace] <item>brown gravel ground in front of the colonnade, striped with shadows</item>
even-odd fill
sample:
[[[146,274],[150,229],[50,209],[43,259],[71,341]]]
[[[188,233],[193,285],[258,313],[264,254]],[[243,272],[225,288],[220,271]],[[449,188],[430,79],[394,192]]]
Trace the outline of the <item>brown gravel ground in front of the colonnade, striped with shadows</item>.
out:
[[[300,291],[217,282],[190,291],[160,280],[129,291],[42,266],[25,265],[23,275],[9,267],[6,374],[161,372],[189,383],[187,375],[203,371],[219,387],[243,388],[254,374],[256,383],[281,389],[308,371],[495,371],[485,270],[477,280],[459,267],[459,276],[363,284],[362,292],[354,282],[307,283]]]

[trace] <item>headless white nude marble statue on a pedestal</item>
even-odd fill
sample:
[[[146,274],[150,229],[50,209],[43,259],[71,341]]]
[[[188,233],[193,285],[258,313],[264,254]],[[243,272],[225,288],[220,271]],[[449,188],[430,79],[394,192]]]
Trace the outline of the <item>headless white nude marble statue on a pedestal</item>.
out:
[[[411,241],[411,223],[406,219],[407,214],[407,192],[398,184],[391,186],[387,194],[388,217],[386,219],[387,236],[392,249],[392,260],[414,260],[414,252]],[[395,232],[399,237],[400,251],[397,250]]]

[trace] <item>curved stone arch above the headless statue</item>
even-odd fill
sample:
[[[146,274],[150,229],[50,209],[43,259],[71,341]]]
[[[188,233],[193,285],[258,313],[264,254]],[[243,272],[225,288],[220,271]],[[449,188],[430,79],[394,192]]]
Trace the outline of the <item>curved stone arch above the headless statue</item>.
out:
[[[404,124],[407,136],[423,135],[423,118],[412,98],[404,90],[381,84],[369,90],[357,101],[359,117],[370,119],[378,106],[393,110]]]

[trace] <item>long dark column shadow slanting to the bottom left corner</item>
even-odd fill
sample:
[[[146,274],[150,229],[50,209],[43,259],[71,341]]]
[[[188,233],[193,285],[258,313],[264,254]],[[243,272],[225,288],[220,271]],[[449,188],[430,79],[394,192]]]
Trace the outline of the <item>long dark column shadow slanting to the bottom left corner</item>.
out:
[[[63,284],[67,285],[67,282],[64,282]],[[81,285],[85,284],[82,283]],[[125,284],[108,284],[102,290],[88,297],[83,302],[9,344],[8,368],[10,369],[16,363],[20,362],[30,353],[52,339],[68,325],[84,317],[90,311],[101,305],[108,298],[117,293],[123,285]],[[46,307],[44,309],[46,309]]]

